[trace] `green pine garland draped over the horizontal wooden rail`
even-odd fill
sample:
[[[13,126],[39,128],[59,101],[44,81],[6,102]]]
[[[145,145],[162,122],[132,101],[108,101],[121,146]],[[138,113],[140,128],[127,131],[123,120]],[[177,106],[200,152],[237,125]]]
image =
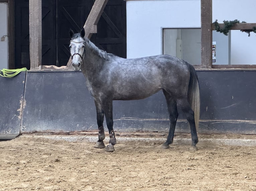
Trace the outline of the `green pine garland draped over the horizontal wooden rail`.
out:
[[[223,21],[224,23],[224,28],[221,29],[218,23],[218,20],[216,19],[215,22],[213,23],[215,26],[215,30],[217,32],[223,33],[224,35],[228,35],[229,30],[234,26],[235,23],[240,23],[239,20],[234,20],[234,21]],[[245,21],[242,21],[242,23],[246,23]],[[250,32],[254,32],[256,33],[256,27],[253,27],[252,29],[248,29],[248,30],[240,30],[241,32],[245,32],[248,34],[248,37],[250,36]]]

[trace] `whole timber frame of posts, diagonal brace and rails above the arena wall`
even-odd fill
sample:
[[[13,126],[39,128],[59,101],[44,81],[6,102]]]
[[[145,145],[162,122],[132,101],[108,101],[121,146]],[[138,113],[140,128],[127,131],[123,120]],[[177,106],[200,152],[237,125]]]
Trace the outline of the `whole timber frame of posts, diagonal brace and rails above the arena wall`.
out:
[[[29,53],[30,70],[70,70],[71,59],[67,66],[42,66],[42,26],[41,1],[29,0]],[[127,0],[126,0],[127,1]],[[108,0],[95,0],[92,10],[85,22],[86,37],[91,38],[97,33],[97,23]],[[8,68],[15,68],[15,0],[0,0],[8,3]],[[220,24],[223,27],[224,24]],[[256,23],[237,23],[232,30],[252,29]],[[212,65],[212,31],[215,30],[212,22],[212,0],[201,0],[201,65],[194,65],[198,70],[208,69],[256,69],[256,65]]]

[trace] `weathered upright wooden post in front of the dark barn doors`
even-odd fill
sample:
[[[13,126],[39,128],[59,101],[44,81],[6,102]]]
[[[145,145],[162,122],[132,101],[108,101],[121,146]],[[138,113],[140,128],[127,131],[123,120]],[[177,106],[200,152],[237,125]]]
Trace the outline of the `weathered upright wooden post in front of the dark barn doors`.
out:
[[[29,0],[30,69],[38,69],[42,60],[42,2]]]

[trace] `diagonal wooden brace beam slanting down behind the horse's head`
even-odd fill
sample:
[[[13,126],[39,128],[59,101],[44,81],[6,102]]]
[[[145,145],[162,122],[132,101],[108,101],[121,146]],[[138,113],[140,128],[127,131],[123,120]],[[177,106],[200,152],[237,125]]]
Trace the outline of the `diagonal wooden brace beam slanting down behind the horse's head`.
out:
[[[95,0],[92,10],[85,22],[85,37],[91,38],[93,33],[97,33],[97,24],[103,13],[103,10],[107,4],[108,0]],[[72,68],[72,60],[71,57],[67,64],[67,69]]]

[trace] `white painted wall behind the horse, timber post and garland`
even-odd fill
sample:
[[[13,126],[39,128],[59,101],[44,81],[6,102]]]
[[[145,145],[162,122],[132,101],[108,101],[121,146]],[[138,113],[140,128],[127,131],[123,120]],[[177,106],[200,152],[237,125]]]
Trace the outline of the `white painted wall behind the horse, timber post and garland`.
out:
[[[213,0],[213,21],[256,23],[255,10],[256,0]],[[161,54],[162,27],[201,27],[200,0],[128,0],[126,11],[127,58]],[[255,33],[232,31],[230,64],[256,64],[255,43]]]

